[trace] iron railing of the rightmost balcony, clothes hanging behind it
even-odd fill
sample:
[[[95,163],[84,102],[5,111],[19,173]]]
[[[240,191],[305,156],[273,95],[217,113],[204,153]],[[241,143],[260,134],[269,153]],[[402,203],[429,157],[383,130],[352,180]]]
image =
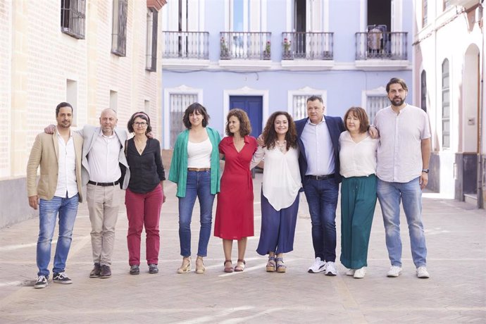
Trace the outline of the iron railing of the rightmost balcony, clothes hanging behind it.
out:
[[[406,60],[406,32],[356,32],[356,60]]]

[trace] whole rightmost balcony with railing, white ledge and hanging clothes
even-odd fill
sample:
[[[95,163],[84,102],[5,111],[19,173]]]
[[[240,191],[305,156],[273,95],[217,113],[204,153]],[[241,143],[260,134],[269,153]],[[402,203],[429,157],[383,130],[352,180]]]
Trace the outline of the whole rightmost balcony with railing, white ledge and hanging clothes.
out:
[[[356,66],[389,70],[409,66],[406,32],[356,32]]]

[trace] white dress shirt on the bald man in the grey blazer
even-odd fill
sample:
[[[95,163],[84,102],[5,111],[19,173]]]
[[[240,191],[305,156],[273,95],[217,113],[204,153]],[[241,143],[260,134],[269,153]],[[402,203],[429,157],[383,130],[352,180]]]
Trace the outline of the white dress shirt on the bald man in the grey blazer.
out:
[[[89,180],[94,182],[116,182],[121,177],[118,161],[121,142],[115,132],[111,136],[99,134],[94,139],[93,147],[88,153]]]

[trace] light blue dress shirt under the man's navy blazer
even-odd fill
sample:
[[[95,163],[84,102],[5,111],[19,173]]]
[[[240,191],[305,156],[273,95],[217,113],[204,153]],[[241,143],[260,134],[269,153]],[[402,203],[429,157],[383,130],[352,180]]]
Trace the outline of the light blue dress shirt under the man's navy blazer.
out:
[[[307,160],[306,175],[330,175],[335,173],[334,150],[325,119],[316,124],[307,120],[301,135]]]

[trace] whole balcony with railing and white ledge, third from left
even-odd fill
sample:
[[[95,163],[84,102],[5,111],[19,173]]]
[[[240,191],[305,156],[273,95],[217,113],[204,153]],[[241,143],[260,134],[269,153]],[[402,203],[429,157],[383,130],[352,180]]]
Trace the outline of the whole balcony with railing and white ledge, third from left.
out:
[[[332,32],[282,32],[282,67],[332,68],[333,36]]]

